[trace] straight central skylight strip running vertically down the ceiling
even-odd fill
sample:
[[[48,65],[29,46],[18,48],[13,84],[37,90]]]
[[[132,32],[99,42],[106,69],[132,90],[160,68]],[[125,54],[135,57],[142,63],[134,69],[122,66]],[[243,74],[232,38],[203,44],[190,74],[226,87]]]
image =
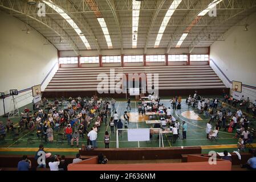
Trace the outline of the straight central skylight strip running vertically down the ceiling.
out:
[[[132,48],[137,48],[140,1],[132,0]]]

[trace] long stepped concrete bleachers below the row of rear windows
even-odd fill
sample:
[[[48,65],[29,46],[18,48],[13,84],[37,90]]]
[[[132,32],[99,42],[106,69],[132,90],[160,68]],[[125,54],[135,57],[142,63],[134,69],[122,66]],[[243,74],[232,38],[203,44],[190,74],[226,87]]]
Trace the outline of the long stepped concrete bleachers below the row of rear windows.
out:
[[[99,73],[110,76],[123,73],[159,73],[159,90],[178,89],[225,89],[226,86],[209,65],[155,66],[155,67],[101,67],[59,68],[44,90],[47,92],[96,91]],[[115,80],[115,84],[117,80]],[[109,85],[110,87],[110,85]]]

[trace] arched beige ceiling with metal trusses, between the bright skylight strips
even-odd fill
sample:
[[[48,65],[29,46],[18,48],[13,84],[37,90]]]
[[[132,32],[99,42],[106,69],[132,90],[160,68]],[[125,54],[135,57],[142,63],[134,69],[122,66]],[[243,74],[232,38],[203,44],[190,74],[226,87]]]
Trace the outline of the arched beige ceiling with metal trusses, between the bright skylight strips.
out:
[[[223,0],[217,5],[217,16],[206,14],[191,26],[198,13],[211,2],[213,0],[182,0],[170,18],[158,48],[165,48],[169,53],[188,27],[191,30],[181,48],[209,47],[224,39],[223,35],[230,27],[256,11],[255,0]],[[120,49],[122,53],[123,49],[132,48],[132,0],[52,0],[52,3],[74,20],[92,50],[100,53],[109,49],[97,14],[105,20],[112,49]],[[172,3],[173,0],[141,1],[137,49],[144,49],[147,53],[147,48],[154,48],[162,20]],[[27,23],[59,51],[74,50],[78,53],[87,49],[74,28],[47,5],[46,16],[41,17],[37,14],[38,7],[27,4],[27,0],[0,0],[0,10]]]

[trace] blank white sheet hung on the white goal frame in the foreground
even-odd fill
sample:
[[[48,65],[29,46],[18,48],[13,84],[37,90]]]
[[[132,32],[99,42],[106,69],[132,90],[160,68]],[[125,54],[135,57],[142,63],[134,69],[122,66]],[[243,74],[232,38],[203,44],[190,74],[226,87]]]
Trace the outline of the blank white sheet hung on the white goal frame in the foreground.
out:
[[[149,141],[149,129],[128,129],[128,141]]]

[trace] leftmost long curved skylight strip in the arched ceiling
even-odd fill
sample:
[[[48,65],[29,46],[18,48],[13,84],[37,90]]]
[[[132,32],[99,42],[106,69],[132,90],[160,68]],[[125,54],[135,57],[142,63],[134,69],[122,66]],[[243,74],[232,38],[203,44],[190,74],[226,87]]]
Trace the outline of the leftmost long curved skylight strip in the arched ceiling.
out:
[[[68,22],[68,24],[70,24],[70,26],[72,28],[74,28],[76,34],[79,35],[80,39],[84,43],[84,46],[86,46],[87,49],[91,49],[91,46],[88,43],[86,37],[84,35],[81,35],[82,31],[80,30],[78,25],[70,18],[70,16],[68,14],[66,14],[63,11],[63,9],[61,9],[58,6],[56,6],[52,1],[43,1],[43,2],[46,3],[46,5],[50,6],[52,9],[54,9],[57,13],[59,13],[59,15],[62,16]]]

